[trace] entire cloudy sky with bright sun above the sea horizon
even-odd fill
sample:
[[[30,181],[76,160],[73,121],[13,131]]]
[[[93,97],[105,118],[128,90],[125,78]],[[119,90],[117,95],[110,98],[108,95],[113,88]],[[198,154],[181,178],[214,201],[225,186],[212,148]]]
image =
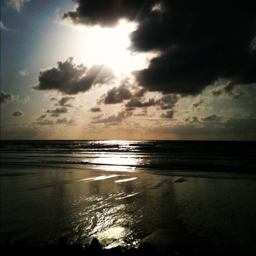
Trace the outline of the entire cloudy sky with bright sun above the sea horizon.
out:
[[[1,139],[256,139],[251,2],[1,1]]]

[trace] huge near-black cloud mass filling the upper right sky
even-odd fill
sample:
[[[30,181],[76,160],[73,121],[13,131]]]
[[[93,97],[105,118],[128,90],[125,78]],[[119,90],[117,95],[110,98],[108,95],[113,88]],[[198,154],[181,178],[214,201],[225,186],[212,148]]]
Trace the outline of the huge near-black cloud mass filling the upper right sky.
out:
[[[134,72],[148,91],[197,95],[220,78],[256,81],[256,9],[247,1],[77,2],[63,18],[100,26],[114,26],[120,18],[138,22],[131,49],[160,53],[148,68]]]

